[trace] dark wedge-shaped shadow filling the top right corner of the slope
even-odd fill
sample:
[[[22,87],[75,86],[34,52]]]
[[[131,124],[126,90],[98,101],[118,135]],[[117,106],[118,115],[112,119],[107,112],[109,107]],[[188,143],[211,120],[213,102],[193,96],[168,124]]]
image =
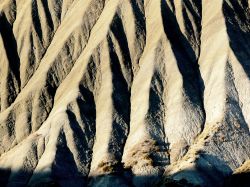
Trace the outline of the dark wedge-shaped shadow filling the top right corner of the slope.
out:
[[[229,44],[250,79],[250,9],[248,0],[223,1]]]

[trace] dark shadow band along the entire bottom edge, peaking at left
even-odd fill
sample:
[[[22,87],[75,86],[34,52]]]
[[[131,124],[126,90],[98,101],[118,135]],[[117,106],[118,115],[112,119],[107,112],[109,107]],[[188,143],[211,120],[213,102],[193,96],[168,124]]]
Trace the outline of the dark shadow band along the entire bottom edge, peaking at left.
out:
[[[61,136],[62,141],[63,137]],[[60,147],[61,146],[61,147]],[[48,176],[46,172],[33,173],[37,176],[37,181],[31,185],[32,187],[84,187],[84,186],[108,186],[108,187],[248,187],[250,173],[234,174],[234,175],[223,175],[214,167],[210,167],[209,163],[203,164],[202,166],[198,164],[197,170],[183,170],[174,175],[167,177],[157,176],[157,175],[141,175],[135,176],[133,172],[129,169],[124,169],[120,172],[113,172],[110,174],[98,175],[94,177],[80,177],[78,176],[78,171],[76,166],[72,163],[73,155],[69,152],[68,148],[60,145],[57,154],[60,152],[62,154],[57,157],[57,166],[53,166],[52,175]],[[59,159],[59,160],[58,160]],[[60,160],[61,159],[61,160]],[[213,158],[214,159],[214,158]],[[217,158],[216,158],[217,159]],[[60,164],[60,166],[59,166]],[[72,165],[73,164],[73,165]],[[205,167],[205,168],[204,168]],[[70,168],[70,169],[69,169]],[[31,173],[24,172],[24,170],[12,171],[12,174],[17,175],[22,174],[24,178],[30,178]],[[0,182],[1,187],[7,187],[7,185],[15,187],[26,187],[28,181],[8,181],[11,174],[9,169],[0,169]],[[28,176],[27,176],[27,175]],[[180,177],[176,177],[176,176]],[[40,177],[39,177],[40,176]],[[47,178],[44,178],[47,176]],[[188,176],[193,176],[194,181],[199,180],[200,177],[203,179],[201,185],[195,185],[191,178]],[[178,179],[177,179],[178,178]],[[49,180],[48,180],[49,179]],[[214,180],[216,179],[216,180]],[[219,179],[219,181],[217,180]]]

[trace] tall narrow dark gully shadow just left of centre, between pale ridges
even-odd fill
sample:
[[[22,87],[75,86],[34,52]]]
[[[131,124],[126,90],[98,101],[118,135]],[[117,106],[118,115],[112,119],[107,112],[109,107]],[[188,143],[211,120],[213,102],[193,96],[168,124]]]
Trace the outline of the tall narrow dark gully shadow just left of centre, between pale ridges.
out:
[[[122,30],[120,30],[119,32],[120,34],[123,33]],[[113,131],[111,134],[108,149],[110,153],[114,154],[117,161],[121,161],[130,125],[130,87],[128,85],[129,83],[124,77],[124,72],[122,72],[120,64],[121,62],[119,61],[119,58],[115,52],[115,46],[111,37],[108,36],[107,40],[110,55],[110,67],[112,72],[112,100],[114,105],[112,124]],[[122,44],[124,46],[127,46],[126,42]],[[123,47],[121,48],[121,50],[126,50],[126,48],[127,47]],[[127,60],[130,60],[130,57],[126,58]],[[131,64],[131,61],[126,63]]]

